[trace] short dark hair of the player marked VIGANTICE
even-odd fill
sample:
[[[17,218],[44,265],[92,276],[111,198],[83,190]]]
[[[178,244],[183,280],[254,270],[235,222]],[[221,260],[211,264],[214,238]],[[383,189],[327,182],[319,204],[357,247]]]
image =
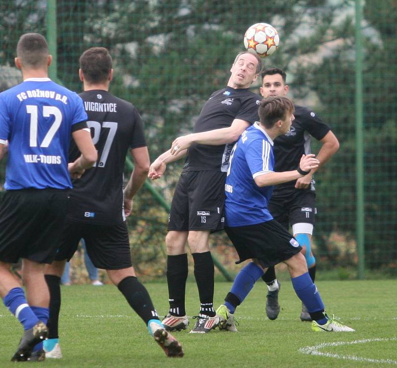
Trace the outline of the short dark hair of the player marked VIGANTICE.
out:
[[[80,69],[88,83],[105,82],[112,70],[112,57],[104,47],[91,47],[80,56]]]

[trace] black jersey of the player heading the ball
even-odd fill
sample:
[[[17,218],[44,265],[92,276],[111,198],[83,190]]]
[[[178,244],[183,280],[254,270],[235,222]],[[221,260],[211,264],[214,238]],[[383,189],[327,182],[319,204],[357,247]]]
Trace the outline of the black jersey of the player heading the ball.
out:
[[[234,119],[251,124],[259,120],[259,96],[248,88],[223,88],[211,94],[201,109],[193,132],[229,127]],[[227,171],[234,142],[218,146],[192,144],[183,171]]]

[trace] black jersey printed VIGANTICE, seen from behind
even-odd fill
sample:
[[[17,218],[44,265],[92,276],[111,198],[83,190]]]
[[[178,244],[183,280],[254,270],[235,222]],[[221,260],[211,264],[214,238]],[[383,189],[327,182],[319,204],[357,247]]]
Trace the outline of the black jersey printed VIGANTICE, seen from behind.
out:
[[[68,218],[98,225],[117,224],[125,220],[123,170],[127,152],[146,146],[142,120],[130,102],[107,91],[86,91],[80,97],[98,160],[80,179],[72,181]],[[72,142],[69,162],[79,155]]]

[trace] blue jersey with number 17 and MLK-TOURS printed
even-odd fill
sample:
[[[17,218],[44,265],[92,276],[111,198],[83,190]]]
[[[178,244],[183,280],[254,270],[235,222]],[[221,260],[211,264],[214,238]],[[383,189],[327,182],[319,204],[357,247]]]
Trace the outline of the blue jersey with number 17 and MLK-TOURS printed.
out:
[[[87,120],[81,98],[49,78],[0,93],[0,142],[8,139],[4,188],[71,188],[72,125]]]

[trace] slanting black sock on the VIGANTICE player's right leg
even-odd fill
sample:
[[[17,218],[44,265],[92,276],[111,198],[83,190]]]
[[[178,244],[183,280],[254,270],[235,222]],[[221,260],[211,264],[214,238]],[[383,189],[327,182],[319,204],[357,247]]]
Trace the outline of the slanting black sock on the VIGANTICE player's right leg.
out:
[[[119,282],[117,287],[127,299],[128,304],[143,319],[145,324],[150,319],[159,319],[149,293],[135,276],[127,276]]]

